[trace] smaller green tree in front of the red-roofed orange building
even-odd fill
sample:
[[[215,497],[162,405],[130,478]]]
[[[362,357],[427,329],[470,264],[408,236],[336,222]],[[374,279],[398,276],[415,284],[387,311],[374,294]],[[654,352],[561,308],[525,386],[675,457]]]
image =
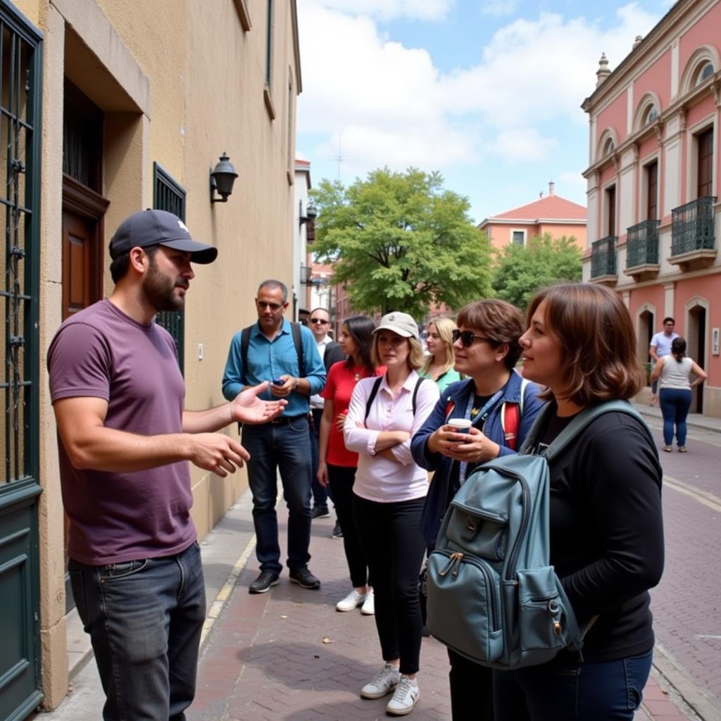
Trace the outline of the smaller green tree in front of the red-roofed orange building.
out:
[[[526,245],[512,243],[498,252],[493,290],[521,309],[539,288],[581,279],[581,251],[574,238],[535,236]]]

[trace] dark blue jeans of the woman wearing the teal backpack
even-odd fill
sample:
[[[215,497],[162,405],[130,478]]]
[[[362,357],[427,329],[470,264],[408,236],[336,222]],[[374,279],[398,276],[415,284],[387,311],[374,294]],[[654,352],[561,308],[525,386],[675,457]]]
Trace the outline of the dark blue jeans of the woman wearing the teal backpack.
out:
[[[495,721],[632,721],[652,656],[494,670]]]

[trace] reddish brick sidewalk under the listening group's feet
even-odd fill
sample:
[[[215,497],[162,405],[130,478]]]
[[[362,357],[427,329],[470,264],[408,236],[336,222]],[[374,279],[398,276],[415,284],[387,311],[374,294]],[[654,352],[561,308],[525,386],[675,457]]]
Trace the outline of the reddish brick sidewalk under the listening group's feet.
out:
[[[285,511],[279,513],[284,520]],[[200,660],[198,693],[189,721],[360,721],[386,718],[386,699],[358,696],[381,659],[372,616],[340,614],[335,602],[350,588],[342,541],[331,539],[333,519],[313,522],[311,570],[319,591],[288,583],[287,572],[269,593],[251,596],[257,575],[249,554],[238,583],[208,634]],[[280,524],[285,533],[284,523]],[[285,536],[280,547],[285,546]],[[443,645],[423,639],[417,720],[451,718],[448,658]],[[685,721],[655,678],[645,690],[638,721]]]

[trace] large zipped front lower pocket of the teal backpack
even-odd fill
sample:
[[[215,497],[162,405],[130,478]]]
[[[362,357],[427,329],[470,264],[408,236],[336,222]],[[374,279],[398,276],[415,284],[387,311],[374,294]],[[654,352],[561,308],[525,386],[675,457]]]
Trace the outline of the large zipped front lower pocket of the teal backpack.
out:
[[[503,653],[500,578],[483,559],[438,549],[428,557],[428,630],[477,663]]]

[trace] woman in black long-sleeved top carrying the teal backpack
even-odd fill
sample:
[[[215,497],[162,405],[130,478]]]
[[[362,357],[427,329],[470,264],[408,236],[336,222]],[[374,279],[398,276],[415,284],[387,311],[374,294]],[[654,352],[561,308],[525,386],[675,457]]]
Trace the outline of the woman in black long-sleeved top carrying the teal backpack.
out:
[[[619,296],[590,283],[536,293],[521,336],[523,376],[547,389],[542,453],[585,407],[629,399],[645,384]],[[550,561],[587,632],[583,650],[493,671],[495,721],[632,721],[651,668],[649,588],[663,571],[658,452],[622,412],[589,423],[549,462]],[[595,619],[595,622],[594,622]]]

